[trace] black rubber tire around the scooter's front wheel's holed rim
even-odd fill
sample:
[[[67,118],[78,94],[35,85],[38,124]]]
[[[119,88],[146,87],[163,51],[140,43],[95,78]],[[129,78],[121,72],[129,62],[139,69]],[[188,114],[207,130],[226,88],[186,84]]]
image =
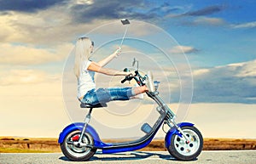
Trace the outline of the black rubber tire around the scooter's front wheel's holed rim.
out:
[[[197,156],[199,156],[201,154],[201,150],[203,148],[203,137],[201,135],[201,132],[196,128],[196,127],[181,127],[182,129],[190,129],[192,131],[194,131],[198,137],[199,137],[199,148],[198,150],[195,151],[195,153],[191,156],[183,156],[182,154],[180,154],[176,148],[175,148],[175,145],[174,145],[174,139],[175,139],[175,136],[177,134],[173,134],[172,135],[172,138],[171,138],[171,144],[170,146],[167,148],[167,150],[169,151],[169,153],[175,157],[177,160],[179,161],[192,161],[192,160],[195,160]]]

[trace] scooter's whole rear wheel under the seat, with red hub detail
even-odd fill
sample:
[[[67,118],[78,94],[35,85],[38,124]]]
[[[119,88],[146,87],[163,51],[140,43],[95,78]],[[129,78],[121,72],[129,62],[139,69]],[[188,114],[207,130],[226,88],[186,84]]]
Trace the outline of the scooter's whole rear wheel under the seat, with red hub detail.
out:
[[[81,131],[74,130],[67,134],[64,141],[61,143],[62,153],[71,161],[87,161],[96,153],[95,148],[91,148],[94,145],[94,140],[90,133],[84,133],[82,143],[89,146],[78,146],[74,142],[78,142],[81,135]]]

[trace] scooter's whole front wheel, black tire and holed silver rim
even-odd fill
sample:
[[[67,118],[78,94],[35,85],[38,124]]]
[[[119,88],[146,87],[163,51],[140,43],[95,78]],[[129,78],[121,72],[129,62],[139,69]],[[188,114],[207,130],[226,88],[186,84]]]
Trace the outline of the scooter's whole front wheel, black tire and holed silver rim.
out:
[[[167,150],[173,157],[177,158],[177,160],[194,160],[201,154],[203,147],[202,135],[196,127],[181,128],[183,129],[183,133],[190,139],[190,142],[187,143],[177,134],[173,134],[171,138],[171,144]]]

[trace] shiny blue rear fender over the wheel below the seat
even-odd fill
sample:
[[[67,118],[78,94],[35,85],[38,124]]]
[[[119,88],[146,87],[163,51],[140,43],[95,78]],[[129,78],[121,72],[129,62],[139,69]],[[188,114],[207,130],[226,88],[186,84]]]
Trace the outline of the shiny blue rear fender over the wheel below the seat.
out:
[[[72,124],[68,125],[60,133],[60,137],[59,137],[58,143],[62,144],[68,133],[70,133],[70,132],[72,132],[74,130],[82,131],[83,127],[84,127],[84,122],[76,122],[76,123],[72,123]],[[87,125],[85,132],[86,133],[90,133],[90,135],[94,139],[94,146],[96,148],[101,148],[103,146],[106,146],[106,144],[102,143],[98,133],[96,133],[96,130],[93,127],[91,127],[90,125]]]

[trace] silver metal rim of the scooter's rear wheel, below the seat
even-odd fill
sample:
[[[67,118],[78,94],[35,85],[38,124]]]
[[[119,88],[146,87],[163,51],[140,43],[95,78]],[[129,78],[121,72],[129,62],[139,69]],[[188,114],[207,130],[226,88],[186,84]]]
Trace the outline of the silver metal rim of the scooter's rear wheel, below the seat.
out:
[[[90,153],[90,150],[91,150],[91,148],[89,147],[85,147],[85,146],[79,147],[79,146],[75,146],[74,144],[71,144],[73,143],[73,137],[78,135],[80,137],[80,133],[81,132],[70,133],[67,135],[67,138],[65,140],[65,146],[66,146],[67,152],[70,155],[75,157],[86,156],[88,155],[88,153]],[[90,136],[87,133],[84,133],[82,143],[92,145],[93,140],[90,138]]]

